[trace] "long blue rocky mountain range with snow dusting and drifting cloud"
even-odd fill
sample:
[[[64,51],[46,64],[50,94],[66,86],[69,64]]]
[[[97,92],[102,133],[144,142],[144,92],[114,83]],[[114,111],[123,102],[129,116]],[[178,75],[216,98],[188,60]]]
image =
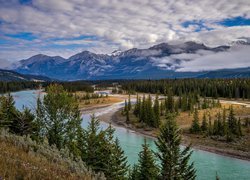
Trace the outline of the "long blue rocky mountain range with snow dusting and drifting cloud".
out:
[[[216,75],[211,72],[175,70],[183,62],[191,61],[186,56],[194,56],[196,53],[217,53],[229,49],[230,46],[211,48],[189,41],[178,44],[161,43],[148,49],[133,48],[124,52],[114,51],[111,54],[83,51],[68,59],[39,54],[14,64],[13,70],[21,74],[42,75],[60,80],[216,77],[218,73]],[[231,72],[230,76],[233,76],[233,73],[235,71]],[[225,76],[227,74],[229,73],[225,73]],[[244,76],[247,76],[247,73]]]

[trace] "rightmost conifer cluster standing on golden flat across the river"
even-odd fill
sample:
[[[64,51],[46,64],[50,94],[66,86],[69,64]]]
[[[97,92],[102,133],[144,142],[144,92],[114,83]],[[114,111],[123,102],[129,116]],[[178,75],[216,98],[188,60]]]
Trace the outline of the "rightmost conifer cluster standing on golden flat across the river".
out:
[[[248,125],[248,121],[245,124]],[[207,115],[204,112],[201,124],[199,124],[198,110],[195,109],[190,133],[205,134],[214,138],[224,137],[228,142],[232,141],[235,137],[243,136],[241,121],[235,117],[232,106],[229,109],[228,115],[225,108],[223,109],[223,113],[218,112],[213,122],[211,115]]]

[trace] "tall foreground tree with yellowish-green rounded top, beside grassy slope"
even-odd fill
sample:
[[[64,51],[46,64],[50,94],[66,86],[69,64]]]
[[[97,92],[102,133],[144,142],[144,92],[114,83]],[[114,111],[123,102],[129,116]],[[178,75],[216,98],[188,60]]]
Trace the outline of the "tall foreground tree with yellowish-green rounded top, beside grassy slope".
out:
[[[58,149],[67,146],[74,152],[72,142],[77,139],[75,132],[81,128],[82,121],[76,99],[61,85],[50,85],[43,101],[38,103],[39,134],[44,134],[50,145]]]

